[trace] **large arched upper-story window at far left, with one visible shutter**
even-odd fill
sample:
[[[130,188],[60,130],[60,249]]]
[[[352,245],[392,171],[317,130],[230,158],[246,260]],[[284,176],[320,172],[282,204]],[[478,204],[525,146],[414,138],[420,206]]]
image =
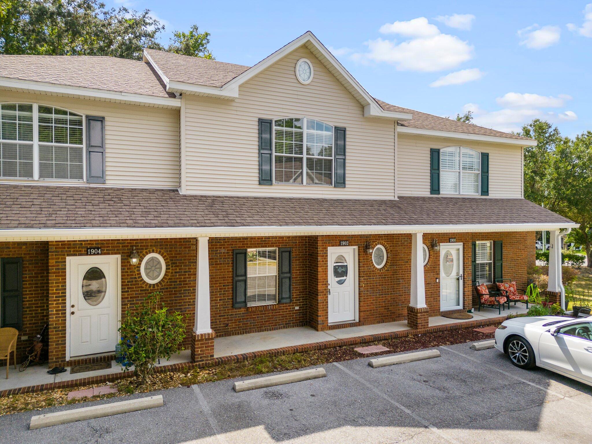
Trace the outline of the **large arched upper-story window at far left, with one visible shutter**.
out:
[[[82,115],[37,104],[0,105],[0,177],[82,181]]]

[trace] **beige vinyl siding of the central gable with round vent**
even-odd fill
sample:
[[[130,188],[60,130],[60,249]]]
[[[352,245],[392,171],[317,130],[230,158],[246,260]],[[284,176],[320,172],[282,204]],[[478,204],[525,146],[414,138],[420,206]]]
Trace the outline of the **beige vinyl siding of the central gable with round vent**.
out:
[[[295,65],[313,64],[302,85]],[[394,124],[363,107],[305,47],[240,86],[234,101],[184,96],[186,192],[330,198],[394,197]],[[259,185],[259,118],[308,117],[345,127],[346,188]],[[264,217],[264,215],[262,215]]]

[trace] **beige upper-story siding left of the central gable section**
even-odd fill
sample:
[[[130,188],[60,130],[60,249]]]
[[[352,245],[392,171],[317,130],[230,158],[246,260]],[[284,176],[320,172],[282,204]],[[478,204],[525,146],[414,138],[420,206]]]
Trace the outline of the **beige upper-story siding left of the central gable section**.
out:
[[[106,185],[179,186],[179,110],[9,91],[0,91],[0,102],[36,102],[103,116]]]

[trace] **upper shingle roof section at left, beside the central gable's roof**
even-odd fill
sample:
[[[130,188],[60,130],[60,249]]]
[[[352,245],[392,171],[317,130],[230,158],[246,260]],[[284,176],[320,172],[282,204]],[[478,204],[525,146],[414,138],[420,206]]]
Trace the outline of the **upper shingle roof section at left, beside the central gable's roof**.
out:
[[[105,91],[175,97],[150,63],[106,56],[0,55],[0,76]]]

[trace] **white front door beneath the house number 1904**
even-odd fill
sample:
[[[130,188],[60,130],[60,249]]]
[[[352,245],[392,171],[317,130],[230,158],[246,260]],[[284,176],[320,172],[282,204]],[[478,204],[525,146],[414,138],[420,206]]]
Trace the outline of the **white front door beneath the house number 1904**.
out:
[[[120,256],[67,258],[69,356],[115,350],[120,305]]]

